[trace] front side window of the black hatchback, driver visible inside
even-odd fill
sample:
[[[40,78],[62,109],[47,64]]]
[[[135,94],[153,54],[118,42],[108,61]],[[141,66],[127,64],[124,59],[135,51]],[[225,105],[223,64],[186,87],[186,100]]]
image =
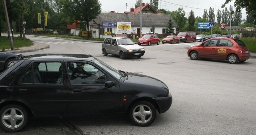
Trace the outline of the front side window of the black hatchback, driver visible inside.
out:
[[[72,73],[68,75],[70,83],[76,84],[104,84],[107,80],[106,75],[98,68],[80,62],[68,62],[67,66],[74,65]],[[70,68],[68,67],[68,70]],[[71,69],[70,69],[71,70]]]

